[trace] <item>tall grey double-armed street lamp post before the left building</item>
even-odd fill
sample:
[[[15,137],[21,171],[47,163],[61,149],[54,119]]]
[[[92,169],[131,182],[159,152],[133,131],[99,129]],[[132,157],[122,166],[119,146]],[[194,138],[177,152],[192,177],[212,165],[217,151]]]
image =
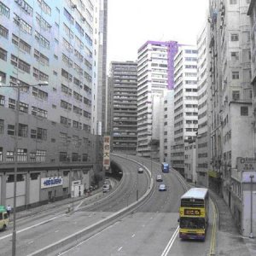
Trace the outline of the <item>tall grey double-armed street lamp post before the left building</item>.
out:
[[[34,85],[24,85],[23,87],[47,86],[48,82],[42,81]],[[3,85],[1,87],[14,87],[10,85]],[[17,171],[18,171],[18,140],[19,140],[19,117],[20,117],[20,81],[17,80],[17,101],[15,111],[15,183],[14,183],[14,221],[13,221],[13,237],[12,237],[12,256],[16,255],[16,195],[17,195]]]

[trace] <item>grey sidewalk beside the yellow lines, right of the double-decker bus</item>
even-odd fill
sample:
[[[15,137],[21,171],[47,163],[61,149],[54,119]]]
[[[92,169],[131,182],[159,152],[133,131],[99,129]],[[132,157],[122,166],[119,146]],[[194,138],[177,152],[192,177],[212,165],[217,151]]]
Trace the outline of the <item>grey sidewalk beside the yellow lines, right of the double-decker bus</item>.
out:
[[[218,207],[218,231],[215,255],[253,256],[256,255],[256,238],[244,238],[240,235],[230,208],[224,199],[209,189],[212,201]]]

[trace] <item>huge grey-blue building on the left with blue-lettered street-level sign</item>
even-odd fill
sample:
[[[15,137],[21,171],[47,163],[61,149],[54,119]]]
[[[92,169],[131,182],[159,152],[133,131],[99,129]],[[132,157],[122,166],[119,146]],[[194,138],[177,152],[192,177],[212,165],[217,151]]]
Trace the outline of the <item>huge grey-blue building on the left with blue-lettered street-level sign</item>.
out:
[[[0,87],[3,205],[13,205],[17,106],[17,207],[81,195],[102,170],[92,134],[99,3],[0,1],[0,83],[12,86]],[[49,86],[37,86],[42,81]]]

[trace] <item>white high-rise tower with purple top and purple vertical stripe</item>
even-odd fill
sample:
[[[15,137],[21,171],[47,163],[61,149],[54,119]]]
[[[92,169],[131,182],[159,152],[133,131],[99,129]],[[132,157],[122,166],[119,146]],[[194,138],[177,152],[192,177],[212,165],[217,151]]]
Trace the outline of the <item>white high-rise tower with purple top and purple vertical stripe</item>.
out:
[[[137,154],[160,159],[160,102],[173,89],[177,42],[148,41],[138,49]]]

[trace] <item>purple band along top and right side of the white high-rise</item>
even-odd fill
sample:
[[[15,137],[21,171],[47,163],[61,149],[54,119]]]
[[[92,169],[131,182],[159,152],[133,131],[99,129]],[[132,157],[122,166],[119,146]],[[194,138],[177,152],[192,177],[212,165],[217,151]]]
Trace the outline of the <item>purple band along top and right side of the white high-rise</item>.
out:
[[[168,89],[172,90],[174,88],[174,56],[177,54],[177,49],[179,44],[176,41],[147,41],[143,46],[138,49],[140,52],[143,48],[145,48],[148,44],[166,46],[168,50]]]

